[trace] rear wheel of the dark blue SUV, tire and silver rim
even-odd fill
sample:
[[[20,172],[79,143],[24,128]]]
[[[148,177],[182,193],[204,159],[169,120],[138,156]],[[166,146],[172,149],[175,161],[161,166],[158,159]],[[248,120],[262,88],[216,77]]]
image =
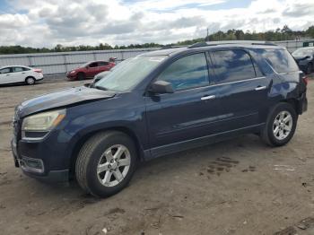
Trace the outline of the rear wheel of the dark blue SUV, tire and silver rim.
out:
[[[287,144],[294,135],[298,115],[289,103],[278,103],[268,114],[261,132],[262,140],[271,146]]]

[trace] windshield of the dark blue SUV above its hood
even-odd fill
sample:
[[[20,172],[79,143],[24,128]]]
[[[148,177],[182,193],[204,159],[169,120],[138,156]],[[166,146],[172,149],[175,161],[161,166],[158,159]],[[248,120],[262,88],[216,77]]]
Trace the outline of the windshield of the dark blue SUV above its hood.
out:
[[[117,66],[111,73],[95,84],[99,89],[127,91],[151,73],[165,57],[134,57]]]

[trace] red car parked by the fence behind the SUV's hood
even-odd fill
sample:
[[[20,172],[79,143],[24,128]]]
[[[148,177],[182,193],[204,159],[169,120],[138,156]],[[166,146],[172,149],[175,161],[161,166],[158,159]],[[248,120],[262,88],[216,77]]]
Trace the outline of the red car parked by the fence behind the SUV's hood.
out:
[[[92,61],[83,64],[82,66],[75,68],[74,70],[66,74],[67,78],[70,80],[84,80],[85,78],[93,78],[94,75],[99,74],[103,71],[109,71],[115,62],[110,59],[110,61]]]

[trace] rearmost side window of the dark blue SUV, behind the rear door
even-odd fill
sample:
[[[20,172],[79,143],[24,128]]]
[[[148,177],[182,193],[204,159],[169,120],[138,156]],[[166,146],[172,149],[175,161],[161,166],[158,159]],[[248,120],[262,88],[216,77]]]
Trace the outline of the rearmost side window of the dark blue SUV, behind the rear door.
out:
[[[285,49],[264,49],[262,56],[277,73],[290,73],[299,71],[298,65],[293,57]]]

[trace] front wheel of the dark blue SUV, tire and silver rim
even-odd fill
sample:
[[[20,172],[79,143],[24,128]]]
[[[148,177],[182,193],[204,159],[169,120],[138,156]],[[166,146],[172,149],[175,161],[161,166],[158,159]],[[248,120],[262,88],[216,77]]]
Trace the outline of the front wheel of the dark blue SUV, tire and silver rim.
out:
[[[131,180],[136,159],[129,136],[118,131],[99,133],[83,144],[75,164],[76,179],[93,196],[112,196]]]

